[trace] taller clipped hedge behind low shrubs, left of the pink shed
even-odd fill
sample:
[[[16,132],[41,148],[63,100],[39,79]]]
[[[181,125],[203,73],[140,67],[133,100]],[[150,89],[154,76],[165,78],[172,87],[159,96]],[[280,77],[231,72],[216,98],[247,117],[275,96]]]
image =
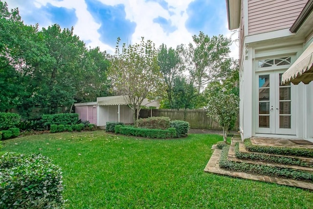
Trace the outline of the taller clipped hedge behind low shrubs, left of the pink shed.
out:
[[[43,115],[42,121],[43,121],[43,124],[46,126],[52,125],[52,124],[71,125],[71,124],[77,123],[78,114],[76,114],[76,113],[63,113],[63,114]]]

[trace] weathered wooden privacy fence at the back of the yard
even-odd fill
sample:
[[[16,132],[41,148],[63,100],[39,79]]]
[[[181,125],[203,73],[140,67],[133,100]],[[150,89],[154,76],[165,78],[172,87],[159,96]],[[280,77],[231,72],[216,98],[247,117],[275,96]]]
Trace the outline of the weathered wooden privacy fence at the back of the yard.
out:
[[[184,109],[142,109],[140,110],[139,117],[147,118],[151,116],[164,116],[169,117],[171,120],[185,120],[190,124],[190,128],[198,129],[213,129],[222,130],[222,127],[206,115],[205,110],[184,110]],[[238,130],[238,120],[235,124],[233,131]]]

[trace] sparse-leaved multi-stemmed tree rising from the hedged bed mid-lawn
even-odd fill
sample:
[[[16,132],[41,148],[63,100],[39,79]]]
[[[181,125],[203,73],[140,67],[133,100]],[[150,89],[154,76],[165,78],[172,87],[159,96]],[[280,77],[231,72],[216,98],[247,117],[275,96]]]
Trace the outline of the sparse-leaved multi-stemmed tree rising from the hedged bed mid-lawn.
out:
[[[119,51],[117,39],[114,58],[109,69],[113,91],[123,95],[138,119],[141,104],[145,98],[155,100],[164,94],[162,73],[157,65],[155,44],[141,37],[140,44],[126,46]]]

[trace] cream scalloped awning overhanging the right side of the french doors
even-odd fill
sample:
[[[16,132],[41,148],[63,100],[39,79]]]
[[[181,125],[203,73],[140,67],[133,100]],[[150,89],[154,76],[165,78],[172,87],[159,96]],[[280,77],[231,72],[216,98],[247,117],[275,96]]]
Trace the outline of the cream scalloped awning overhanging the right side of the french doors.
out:
[[[297,85],[300,82],[308,84],[313,80],[313,43],[305,49],[299,58],[282,75],[282,84],[290,82]]]

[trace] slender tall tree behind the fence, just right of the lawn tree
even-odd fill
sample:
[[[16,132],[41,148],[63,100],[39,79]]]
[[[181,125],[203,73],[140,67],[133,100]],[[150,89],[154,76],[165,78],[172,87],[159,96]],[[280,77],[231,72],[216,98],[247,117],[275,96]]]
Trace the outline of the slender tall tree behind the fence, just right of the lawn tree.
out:
[[[166,45],[162,44],[158,49],[157,61],[166,84],[166,107],[175,108],[173,107],[173,81],[182,72],[179,50],[172,47],[167,48]]]

